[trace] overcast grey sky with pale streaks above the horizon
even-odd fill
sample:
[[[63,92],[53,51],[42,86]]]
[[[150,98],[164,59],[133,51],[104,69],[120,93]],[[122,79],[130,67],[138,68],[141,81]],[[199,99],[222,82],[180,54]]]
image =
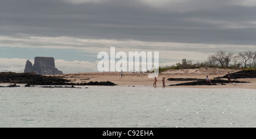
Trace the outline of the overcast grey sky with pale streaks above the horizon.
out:
[[[0,0],[0,71],[54,57],[64,73],[97,71],[97,54],[157,51],[160,63],[256,50],[256,1]]]

